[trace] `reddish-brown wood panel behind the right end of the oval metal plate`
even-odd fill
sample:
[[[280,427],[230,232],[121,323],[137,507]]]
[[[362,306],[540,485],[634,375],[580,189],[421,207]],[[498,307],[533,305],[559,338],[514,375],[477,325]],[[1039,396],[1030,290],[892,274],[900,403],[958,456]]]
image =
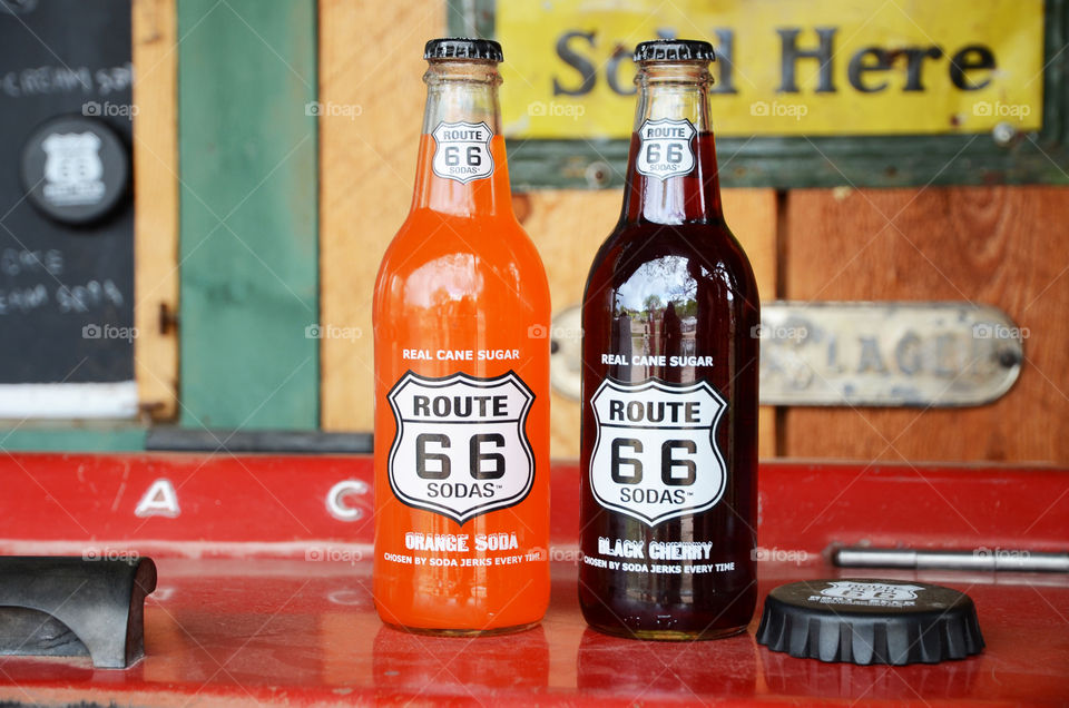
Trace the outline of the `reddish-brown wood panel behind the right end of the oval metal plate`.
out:
[[[989,303],[1030,336],[1020,378],[991,405],[792,409],[782,452],[1069,462],[1067,216],[1069,189],[1057,187],[790,193],[787,297]]]

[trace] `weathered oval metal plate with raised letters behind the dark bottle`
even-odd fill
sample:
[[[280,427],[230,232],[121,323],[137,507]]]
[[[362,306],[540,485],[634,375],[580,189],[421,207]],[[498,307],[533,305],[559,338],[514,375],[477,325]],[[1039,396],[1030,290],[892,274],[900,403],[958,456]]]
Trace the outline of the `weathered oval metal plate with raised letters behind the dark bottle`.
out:
[[[656,324],[632,324],[632,335]],[[965,302],[775,301],[762,306],[753,335],[762,338],[763,405],[958,407],[1010,390],[1029,332],[996,307]],[[579,400],[578,307],[557,314],[550,336],[553,389]]]

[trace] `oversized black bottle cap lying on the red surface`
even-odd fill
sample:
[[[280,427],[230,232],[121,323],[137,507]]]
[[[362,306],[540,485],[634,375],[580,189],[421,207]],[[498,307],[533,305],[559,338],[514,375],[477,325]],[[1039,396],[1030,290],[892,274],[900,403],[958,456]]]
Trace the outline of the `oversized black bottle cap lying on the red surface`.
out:
[[[874,578],[779,586],[765,599],[757,642],[792,657],[895,666],[964,659],[983,649],[968,594]]]

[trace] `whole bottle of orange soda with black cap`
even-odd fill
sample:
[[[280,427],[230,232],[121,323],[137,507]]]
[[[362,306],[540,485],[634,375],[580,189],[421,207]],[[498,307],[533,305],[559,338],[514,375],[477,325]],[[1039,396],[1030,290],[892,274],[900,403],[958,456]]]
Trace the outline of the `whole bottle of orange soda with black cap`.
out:
[[[549,286],[512,213],[501,47],[424,58],[415,193],[375,284],[375,608],[518,630],[549,602]]]

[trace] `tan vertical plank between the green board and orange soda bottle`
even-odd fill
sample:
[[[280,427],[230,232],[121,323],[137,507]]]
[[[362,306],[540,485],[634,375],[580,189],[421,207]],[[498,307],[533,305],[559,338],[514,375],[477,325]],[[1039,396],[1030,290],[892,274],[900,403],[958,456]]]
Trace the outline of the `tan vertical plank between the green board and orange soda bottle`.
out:
[[[423,45],[444,30],[444,1],[320,2],[321,322],[362,333],[321,341],[324,430],[373,426],[375,275],[412,200]]]

